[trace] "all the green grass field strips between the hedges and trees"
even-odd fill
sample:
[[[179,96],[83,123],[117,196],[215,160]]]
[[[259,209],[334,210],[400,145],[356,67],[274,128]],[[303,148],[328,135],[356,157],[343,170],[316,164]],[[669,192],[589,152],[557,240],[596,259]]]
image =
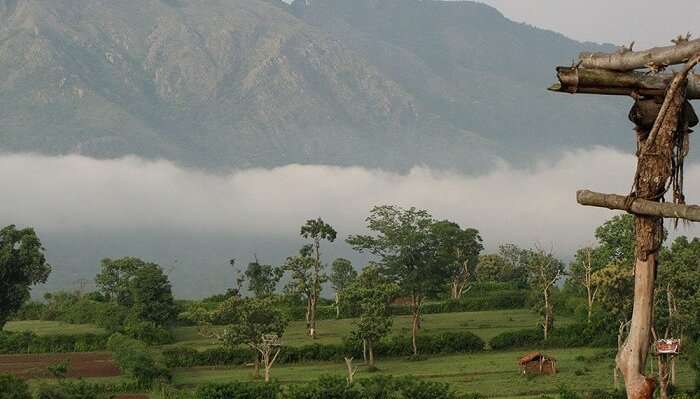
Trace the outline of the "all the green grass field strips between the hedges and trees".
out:
[[[436,334],[445,331],[471,331],[488,341],[504,331],[533,328],[538,316],[529,310],[465,312],[426,315],[421,334]],[[567,324],[571,320],[558,318],[557,323]],[[352,328],[352,320],[323,320],[318,323],[320,343],[341,342]],[[72,334],[101,332],[90,325],[70,325],[60,322],[23,321],[11,322],[6,326],[10,331],[33,331],[37,334]],[[410,334],[410,318],[397,317],[394,334]],[[213,347],[217,344],[197,334],[194,327],[181,327],[175,330],[177,342],[193,348]],[[303,322],[292,322],[284,336],[286,345],[299,346],[312,341],[306,336]],[[538,348],[529,348],[537,350]],[[608,351],[592,348],[552,349],[548,355],[558,360],[559,373],[556,376],[526,378],[520,375],[517,359],[523,351],[493,352],[484,351],[470,355],[449,355],[429,357],[423,361],[408,361],[404,358],[380,358],[380,374],[413,375],[431,381],[450,383],[461,393],[479,393],[493,398],[536,398],[542,394],[555,394],[560,386],[576,391],[612,388],[613,360]],[[360,362],[357,362],[360,363]],[[218,367],[177,369],[173,371],[173,383],[190,388],[207,382],[230,382],[251,380],[249,367]],[[344,376],[345,365],[338,363],[303,363],[278,365],[272,371],[274,379],[284,384],[294,384],[317,379],[321,375]],[[367,378],[370,374],[360,367],[357,378]],[[678,382],[681,388],[691,388],[694,373],[686,362],[678,367]],[[37,381],[33,381],[33,385]],[[556,397],[556,396],[554,396]]]

